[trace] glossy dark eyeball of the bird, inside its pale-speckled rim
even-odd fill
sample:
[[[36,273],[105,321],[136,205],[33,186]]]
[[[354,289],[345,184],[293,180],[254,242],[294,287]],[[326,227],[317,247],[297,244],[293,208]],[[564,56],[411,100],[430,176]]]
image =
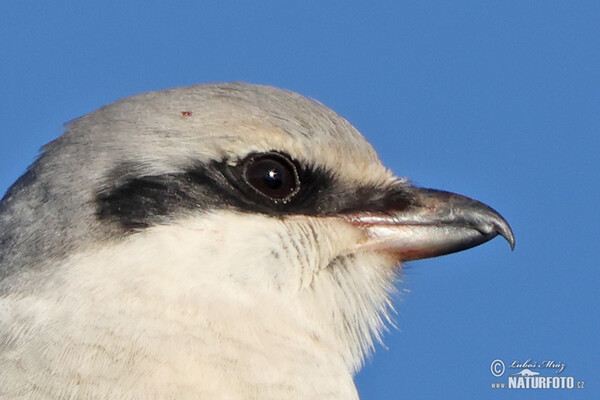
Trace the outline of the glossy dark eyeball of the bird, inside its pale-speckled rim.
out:
[[[284,160],[263,158],[248,166],[246,179],[260,193],[282,199],[296,188],[296,178],[291,168]]]

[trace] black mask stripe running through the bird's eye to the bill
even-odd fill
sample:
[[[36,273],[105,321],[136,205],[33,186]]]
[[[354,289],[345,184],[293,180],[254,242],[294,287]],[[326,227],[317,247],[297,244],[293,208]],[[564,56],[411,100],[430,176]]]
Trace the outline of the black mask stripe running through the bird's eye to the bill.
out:
[[[123,163],[107,174],[108,185],[96,195],[100,220],[135,231],[169,223],[190,212],[230,209],[278,217],[327,216],[386,212],[408,207],[412,202],[409,188],[349,186],[340,182],[333,171],[279,152],[253,153],[237,161],[198,163],[178,173],[139,176],[140,170],[134,163]]]

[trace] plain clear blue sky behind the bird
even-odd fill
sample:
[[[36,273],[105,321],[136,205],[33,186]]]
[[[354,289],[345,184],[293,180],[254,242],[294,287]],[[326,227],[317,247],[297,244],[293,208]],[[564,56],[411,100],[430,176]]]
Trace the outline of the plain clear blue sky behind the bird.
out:
[[[275,85],[353,123],[398,175],[511,223],[409,263],[363,399],[598,398],[596,2],[4,1],[0,191],[66,121],[121,97]],[[556,361],[584,389],[500,390],[494,359]]]

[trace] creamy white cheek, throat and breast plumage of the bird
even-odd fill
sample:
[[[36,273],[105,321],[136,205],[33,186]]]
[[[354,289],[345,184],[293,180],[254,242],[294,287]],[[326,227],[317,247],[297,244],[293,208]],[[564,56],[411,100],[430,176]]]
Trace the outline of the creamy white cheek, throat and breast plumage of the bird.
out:
[[[0,394],[35,370],[39,398],[357,398],[394,272],[372,254],[324,268],[355,234],[334,223],[214,214],[71,258],[19,300],[36,318],[0,343],[30,349],[1,360]]]

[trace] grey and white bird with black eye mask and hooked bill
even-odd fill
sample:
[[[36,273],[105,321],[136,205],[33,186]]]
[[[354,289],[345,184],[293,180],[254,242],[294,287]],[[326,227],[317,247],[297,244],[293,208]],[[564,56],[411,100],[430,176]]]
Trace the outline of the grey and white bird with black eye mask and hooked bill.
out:
[[[295,92],[125,98],[0,202],[0,398],[358,399],[402,263],[498,235]]]

